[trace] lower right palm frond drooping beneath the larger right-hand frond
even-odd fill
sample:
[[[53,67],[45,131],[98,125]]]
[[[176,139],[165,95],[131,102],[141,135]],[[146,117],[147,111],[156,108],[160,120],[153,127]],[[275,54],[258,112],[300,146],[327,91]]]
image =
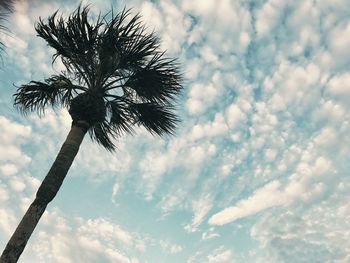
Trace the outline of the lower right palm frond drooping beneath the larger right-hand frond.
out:
[[[130,111],[134,114],[138,125],[144,126],[149,132],[159,136],[174,134],[179,122],[172,107],[154,103],[136,103],[130,105]]]

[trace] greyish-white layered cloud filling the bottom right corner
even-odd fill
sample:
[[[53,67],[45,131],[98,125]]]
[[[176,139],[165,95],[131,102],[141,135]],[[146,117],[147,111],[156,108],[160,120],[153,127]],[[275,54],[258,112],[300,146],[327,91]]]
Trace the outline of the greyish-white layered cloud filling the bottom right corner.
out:
[[[266,214],[251,229],[260,242],[257,262],[346,262],[349,214],[339,193],[307,209],[299,206],[302,215],[291,209]]]

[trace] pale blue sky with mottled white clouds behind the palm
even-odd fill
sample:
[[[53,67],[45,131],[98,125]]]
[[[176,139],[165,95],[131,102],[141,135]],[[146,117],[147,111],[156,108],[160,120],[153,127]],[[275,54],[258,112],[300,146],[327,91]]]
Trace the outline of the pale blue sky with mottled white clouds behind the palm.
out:
[[[115,153],[86,136],[19,262],[350,262],[348,0],[89,3],[140,12],[179,59],[182,122]],[[0,250],[71,125],[21,115],[14,85],[62,70],[34,24],[78,4],[18,0],[1,33]]]

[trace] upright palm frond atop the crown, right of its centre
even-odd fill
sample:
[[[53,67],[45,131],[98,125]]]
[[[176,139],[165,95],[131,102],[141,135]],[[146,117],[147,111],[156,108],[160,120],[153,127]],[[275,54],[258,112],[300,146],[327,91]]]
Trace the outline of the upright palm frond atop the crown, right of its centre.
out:
[[[100,34],[99,62],[100,76],[103,85],[108,78],[119,78],[125,70],[134,70],[143,66],[159,48],[159,40],[153,33],[146,33],[139,14],[128,22],[130,9],[114,15],[111,12],[104,19],[104,30]]]

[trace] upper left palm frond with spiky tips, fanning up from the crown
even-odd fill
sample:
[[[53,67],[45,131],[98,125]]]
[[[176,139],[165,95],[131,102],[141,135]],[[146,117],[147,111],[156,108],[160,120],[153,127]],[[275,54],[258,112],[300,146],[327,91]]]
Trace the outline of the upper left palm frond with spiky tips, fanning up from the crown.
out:
[[[44,22],[41,18],[35,29],[38,36],[46,40],[49,46],[56,50],[54,60],[61,57],[68,72],[78,77],[79,81],[89,86],[94,85],[94,59],[98,31],[102,25],[100,19],[90,24],[89,8],[79,7],[68,17],[57,17],[58,11]]]

